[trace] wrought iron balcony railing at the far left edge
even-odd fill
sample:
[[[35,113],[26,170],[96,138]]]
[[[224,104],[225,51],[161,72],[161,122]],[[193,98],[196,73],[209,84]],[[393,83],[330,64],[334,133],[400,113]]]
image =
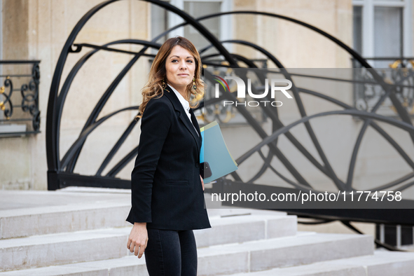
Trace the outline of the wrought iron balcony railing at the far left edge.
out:
[[[0,137],[39,133],[40,60],[0,60]]]

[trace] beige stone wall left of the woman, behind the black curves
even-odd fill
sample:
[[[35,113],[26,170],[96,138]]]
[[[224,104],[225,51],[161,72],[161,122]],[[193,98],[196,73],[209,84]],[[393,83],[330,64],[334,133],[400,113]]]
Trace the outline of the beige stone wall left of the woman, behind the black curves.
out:
[[[101,0],[4,0],[3,41],[4,60],[41,60],[39,109],[41,133],[28,137],[0,139],[0,188],[47,189],[46,165],[46,112],[53,72],[62,46],[78,20]],[[149,39],[149,4],[144,1],[118,1],[103,8],[93,16],[78,34],[75,43],[101,45],[118,39]],[[120,45],[125,50],[139,50],[139,46]],[[90,49],[69,54],[62,74],[64,82],[76,62]],[[69,149],[72,142],[94,108],[97,100],[132,55],[103,52],[88,60],[71,85],[62,114],[60,153]],[[140,88],[146,81],[149,62],[140,59],[118,85],[99,118],[125,106],[137,105]],[[75,167],[75,172],[93,174],[111,146],[122,134],[136,112],[121,113],[104,123],[88,138]],[[139,129],[127,139],[114,161],[129,152],[138,142]],[[102,139],[102,138],[105,139]],[[118,176],[130,177],[131,165]],[[105,172],[105,171],[104,171]]]

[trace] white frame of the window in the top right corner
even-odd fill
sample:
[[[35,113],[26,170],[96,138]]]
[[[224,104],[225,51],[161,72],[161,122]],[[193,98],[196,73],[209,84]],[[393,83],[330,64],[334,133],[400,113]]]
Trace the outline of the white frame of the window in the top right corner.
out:
[[[413,56],[413,0],[353,0],[353,6],[362,7],[362,56],[375,57],[374,52],[374,8],[403,8],[403,56]],[[368,63],[373,63],[369,61]]]

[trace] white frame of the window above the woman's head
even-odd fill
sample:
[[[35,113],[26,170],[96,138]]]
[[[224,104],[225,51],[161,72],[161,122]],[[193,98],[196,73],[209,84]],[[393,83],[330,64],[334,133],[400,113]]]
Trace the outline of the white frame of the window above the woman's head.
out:
[[[181,11],[184,11],[184,1],[187,2],[221,2],[221,13],[225,13],[227,11],[232,10],[233,0],[171,0],[170,4],[176,6]],[[180,18],[178,15],[170,13],[168,17],[168,27],[174,27],[175,25],[179,25],[184,20]],[[220,17],[220,38],[219,40],[223,41],[225,39],[232,39],[232,32],[233,24],[231,15],[225,15]],[[202,22],[201,22],[202,24]],[[184,36],[184,27],[180,27],[175,29],[174,31],[170,32],[168,35],[169,38],[174,36]],[[223,45],[229,52],[232,50],[232,45],[230,43],[226,43]]]

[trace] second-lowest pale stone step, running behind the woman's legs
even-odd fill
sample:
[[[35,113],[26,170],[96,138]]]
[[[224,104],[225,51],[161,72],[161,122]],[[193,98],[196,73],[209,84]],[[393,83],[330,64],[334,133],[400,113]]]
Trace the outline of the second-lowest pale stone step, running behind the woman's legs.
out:
[[[122,244],[125,247],[126,241],[124,240]],[[94,251],[99,250],[102,248],[96,249],[95,246]],[[105,250],[110,251],[110,248],[106,246]],[[369,254],[373,254],[373,237],[371,236],[298,232],[296,236],[291,237],[200,248],[198,249],[198,275],[226,275],[268,270],[286,265],[303,265]],[[144,257],[138,259],[130,255],[103,261],[88,261],[85,258],[82,263],[78,261],[78,263],[67,265],[0,272],[0,276],[109,275],[109,271],[111,276],[148,275]]]

